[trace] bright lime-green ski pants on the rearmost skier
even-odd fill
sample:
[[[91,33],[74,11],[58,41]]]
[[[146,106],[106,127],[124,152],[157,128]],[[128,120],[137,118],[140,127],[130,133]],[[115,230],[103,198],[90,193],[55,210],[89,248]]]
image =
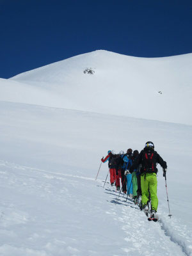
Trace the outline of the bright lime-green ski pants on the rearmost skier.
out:
[[[158,198],[157,198],[157,175],[156,173],[146,173],[141,175],[141,202],[143,205],[148,203],[149,191],[151,200],[151,209],[157,211]]]

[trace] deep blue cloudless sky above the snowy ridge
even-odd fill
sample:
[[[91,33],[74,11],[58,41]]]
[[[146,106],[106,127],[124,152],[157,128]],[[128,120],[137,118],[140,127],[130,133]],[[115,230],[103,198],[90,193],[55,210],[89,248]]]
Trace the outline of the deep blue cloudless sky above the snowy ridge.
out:
[[[192,1],[0,0],[0,77],[104,49],[131,56],[192,52]]]

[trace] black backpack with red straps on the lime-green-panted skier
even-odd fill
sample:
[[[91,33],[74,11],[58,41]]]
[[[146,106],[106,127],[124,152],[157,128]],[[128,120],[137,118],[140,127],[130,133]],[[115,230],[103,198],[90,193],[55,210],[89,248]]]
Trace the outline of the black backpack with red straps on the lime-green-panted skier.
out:
[[[144,173],[157,173],[156,168],[156,151],[143,151],[143,159],[142,159],[142,171]]]

